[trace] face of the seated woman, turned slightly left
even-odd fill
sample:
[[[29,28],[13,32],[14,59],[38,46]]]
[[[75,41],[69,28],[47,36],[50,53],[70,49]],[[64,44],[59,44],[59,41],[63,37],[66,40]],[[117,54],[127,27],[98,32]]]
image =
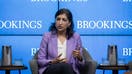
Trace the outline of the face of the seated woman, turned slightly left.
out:
[[[71,23],[69,22],[66,14],[60,14],[56,17],[56,29],[59,32],[65,32],[67,27],[69,27]]]

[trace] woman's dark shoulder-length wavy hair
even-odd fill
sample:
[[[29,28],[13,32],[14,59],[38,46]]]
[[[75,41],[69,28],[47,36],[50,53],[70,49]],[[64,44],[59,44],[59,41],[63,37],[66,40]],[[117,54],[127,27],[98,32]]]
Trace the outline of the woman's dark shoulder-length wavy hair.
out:
[[[60,10],[58,10],[58,11],[56,12],[56,14],[55,14],[55,19],[56,19],[56,17],[57,17],[58,15],[61,15],[61,14],[66,14],[66,16],[67,16],[69,22],[71,22],[71,25],[70,25],[70,26],[67,28],[67,30],[66,30],[67,39],[70,39],[70,38],[73,36],[73,33],[74,33],[74,30],[73,30],[73,28],[74,28],[74,23],[73,23],[72,13],[71,13],[70,10],[68,10],[68,9],[65,9],[65,8],[60,9]],[[49,28],[49,31],[51,31],[52,33],[57,33],[57,29],[56,29],[56,27],[55,27],[55,22],[52,23],[52,25],[51,25],[50,28]]]

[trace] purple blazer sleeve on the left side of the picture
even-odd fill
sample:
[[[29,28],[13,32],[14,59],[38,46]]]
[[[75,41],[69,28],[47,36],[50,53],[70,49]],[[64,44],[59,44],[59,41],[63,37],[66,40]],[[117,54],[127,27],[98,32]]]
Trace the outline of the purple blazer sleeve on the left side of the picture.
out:
[[[51,60],[48,60],[47,57],[48,57],[48,40],[49,40],[49,35],[47,34],[44,34],[44,36],[42,37],[42,40],[41,40],[41,44],[40,44],[40,49],[39,49],[39,52],[38,52],[38,65],[40,67],[44,67],[46,65],[49,64],[49,62]]]

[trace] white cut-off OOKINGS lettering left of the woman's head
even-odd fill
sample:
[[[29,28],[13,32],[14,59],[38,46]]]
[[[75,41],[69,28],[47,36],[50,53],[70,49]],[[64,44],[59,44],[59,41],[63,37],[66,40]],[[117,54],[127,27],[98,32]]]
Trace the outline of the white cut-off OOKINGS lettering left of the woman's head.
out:
[[[0,29],[40,29],[42,28],[41,20],[0,20]]]

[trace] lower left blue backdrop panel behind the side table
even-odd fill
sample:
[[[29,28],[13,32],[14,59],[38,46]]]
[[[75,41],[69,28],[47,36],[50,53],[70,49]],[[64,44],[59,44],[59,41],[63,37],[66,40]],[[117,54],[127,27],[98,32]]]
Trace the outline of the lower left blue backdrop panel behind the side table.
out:
[[[10,45],[12,47],[12,64],[15,60],[22,60],[22,63],[28,67],[22,70],[22,74],[31,74],[29,61],[39,49],[41,36],[1,36],[0,37],[0,59],[2,58],[2,46]],[[17,74],[17,70],[11,71],[11,74]],[[0,70],[0,74],[4,71]]]

